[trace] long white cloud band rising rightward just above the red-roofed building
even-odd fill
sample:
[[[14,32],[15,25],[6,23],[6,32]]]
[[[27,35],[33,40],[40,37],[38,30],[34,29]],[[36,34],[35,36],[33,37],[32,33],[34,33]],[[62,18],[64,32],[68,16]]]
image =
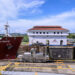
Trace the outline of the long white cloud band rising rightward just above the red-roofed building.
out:
[[[35,25],[61,25],[68,28],[71,32],[75,32],[75,11],[64,12],[55,16],[44,17],[38,20],[19,19],[10,21],[11,28],[14,32],[25,33],[27,29]]]

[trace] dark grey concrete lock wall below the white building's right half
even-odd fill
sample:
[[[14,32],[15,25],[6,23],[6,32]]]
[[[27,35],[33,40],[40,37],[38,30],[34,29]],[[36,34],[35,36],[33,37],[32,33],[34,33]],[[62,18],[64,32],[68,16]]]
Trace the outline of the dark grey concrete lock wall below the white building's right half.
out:
[[[73,48],[49,48],[50,56],[56,60],[73,59]]]

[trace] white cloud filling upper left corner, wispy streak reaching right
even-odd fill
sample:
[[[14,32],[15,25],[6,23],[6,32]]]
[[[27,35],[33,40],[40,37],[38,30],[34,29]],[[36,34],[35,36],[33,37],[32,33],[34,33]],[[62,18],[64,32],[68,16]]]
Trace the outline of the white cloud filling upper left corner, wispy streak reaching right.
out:
[[[0,21],[17,19],[30,11],[35,13],[44,3],[44,0],[0,0]]]

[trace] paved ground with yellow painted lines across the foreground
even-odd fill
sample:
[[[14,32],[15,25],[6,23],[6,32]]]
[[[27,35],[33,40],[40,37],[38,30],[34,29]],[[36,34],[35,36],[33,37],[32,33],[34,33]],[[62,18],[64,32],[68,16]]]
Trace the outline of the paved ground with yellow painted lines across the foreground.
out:
[[[3,64],[0,62],[0,72],[8,73],[8,75],[75,75],[75,63],[22,63],[8,62]],[[11,74],[10,74],[11,73]],[[25,74],[24,74],[25,73]],[[55,73],[55,74],[52,74]]]

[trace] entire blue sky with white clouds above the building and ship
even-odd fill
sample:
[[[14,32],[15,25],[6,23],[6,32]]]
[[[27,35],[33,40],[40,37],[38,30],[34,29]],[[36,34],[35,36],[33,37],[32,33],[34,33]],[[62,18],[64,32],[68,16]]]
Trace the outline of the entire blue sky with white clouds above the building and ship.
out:
[[[75,0],[0,0],[0,33],[26,33],[35,25],[61,25],[75,32]]]

